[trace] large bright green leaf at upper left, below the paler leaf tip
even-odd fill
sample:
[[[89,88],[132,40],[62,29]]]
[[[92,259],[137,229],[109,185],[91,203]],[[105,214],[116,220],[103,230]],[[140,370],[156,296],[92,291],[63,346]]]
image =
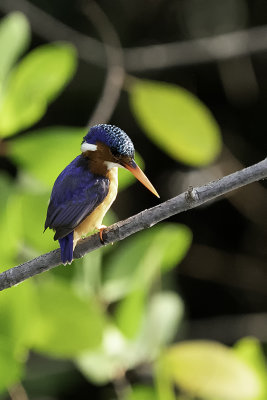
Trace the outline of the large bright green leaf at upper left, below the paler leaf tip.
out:
[[[0,136],[11,136],[42,118],[75,68],[76,52],[69,44],[54,43],[31,51],[9,77],[0,109]]]

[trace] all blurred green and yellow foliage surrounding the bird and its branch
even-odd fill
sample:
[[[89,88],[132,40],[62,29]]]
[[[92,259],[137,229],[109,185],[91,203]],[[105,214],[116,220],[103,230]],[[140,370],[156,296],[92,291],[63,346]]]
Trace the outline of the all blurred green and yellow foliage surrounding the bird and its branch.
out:
[[[0,175],[1,270],[57,247],[43,235],[51,186],[79,152],[85,128],[48,127],[23,135],[72,78],[76,51],[66,43],[29,44],[26,18],[0,24],[0,142],[18,169]],[[16,65],[14,65],[17,62]],[[129,89],[134,116],[151,141],[191,166],[210,163],[221,149],[210,111],[184,89],[136,81]],[[137,162],[144,166],[137,155]],[[134,182],[120,171],[120,188]],[[117,219],[109,213],[108,222]],[[190,229],[162,223],[113,247],[58,267],[0,295],[0,391],[27,381],[29,351],[72,360],[90,381],[116,382],[146,365],[155,385],[127,388],[127,400],[263,400],[267,372],[260,344],[243,339],[233,349],[212,342],[171,344],[184,304],[170,290],[172,269],[192,242]],[[180,397],[176,396],[177,388]]]

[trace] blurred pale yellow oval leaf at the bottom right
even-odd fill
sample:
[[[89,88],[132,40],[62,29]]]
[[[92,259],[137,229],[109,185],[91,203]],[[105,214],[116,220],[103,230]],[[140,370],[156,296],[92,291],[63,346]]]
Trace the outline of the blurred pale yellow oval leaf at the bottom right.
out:
[[[254,400],[260,394],[253,368],[222,344],[182,342],[163,357],[165,373],[189,395],[207,400]]]

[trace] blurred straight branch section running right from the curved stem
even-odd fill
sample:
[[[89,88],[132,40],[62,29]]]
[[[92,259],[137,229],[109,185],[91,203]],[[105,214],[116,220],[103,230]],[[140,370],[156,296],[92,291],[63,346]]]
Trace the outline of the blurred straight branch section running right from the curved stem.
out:
[[[125,49],[128,71],[227,60],[267,50],[267,26],[224,33],[214,37]]]

